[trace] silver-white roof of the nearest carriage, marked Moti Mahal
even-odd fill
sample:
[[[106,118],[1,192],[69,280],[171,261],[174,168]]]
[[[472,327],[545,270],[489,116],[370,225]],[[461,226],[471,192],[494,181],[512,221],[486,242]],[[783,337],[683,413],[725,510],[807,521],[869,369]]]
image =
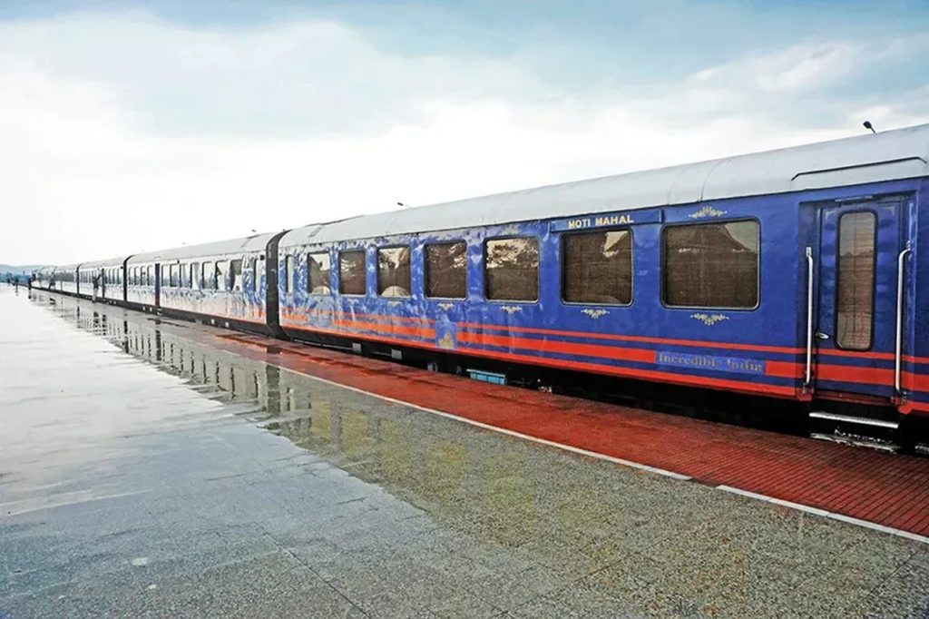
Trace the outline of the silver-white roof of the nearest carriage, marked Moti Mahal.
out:
[[[929,125],[310,224],[281,246],[929,176]]]

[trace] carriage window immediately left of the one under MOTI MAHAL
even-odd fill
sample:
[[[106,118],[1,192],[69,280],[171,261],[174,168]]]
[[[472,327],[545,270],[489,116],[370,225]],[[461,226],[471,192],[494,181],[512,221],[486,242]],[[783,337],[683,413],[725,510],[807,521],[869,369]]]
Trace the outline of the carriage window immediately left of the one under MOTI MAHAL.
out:
[[[487,298],[496,301],[539,299],[539,240],[535,237],[493,239],[484,246]]]

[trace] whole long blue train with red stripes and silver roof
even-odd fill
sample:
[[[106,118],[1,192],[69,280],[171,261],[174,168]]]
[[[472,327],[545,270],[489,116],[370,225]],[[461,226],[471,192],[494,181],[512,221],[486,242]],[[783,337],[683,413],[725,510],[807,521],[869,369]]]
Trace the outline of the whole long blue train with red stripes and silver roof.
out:
[[[491,382],[791,402],[898,432],[929,418],[926,210],[917,125],[46,268],[33,287]]]

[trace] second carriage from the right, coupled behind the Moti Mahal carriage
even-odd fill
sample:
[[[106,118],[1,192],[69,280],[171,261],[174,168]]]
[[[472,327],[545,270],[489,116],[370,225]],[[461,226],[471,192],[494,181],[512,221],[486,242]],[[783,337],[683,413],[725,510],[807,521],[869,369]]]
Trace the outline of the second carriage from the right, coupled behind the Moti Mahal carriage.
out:
[[[130,257],[127,302],[164,314],[261,333],[268,329],[268,244],[280,234]],[[273,312],[274,317],[277,311]],[[272,320],[271,323],[275,323]]]

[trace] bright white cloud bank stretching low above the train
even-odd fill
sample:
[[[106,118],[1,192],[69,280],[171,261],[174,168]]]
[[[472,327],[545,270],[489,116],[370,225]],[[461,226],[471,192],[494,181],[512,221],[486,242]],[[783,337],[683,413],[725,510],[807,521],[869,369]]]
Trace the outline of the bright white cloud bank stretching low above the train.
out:
[[[7,24],[0,258],[94,259],[847,135],[845,113],[811,129],[764,103],[837,78],[855,49],[568,92],[517,59],[410,58],[325,22]]]

